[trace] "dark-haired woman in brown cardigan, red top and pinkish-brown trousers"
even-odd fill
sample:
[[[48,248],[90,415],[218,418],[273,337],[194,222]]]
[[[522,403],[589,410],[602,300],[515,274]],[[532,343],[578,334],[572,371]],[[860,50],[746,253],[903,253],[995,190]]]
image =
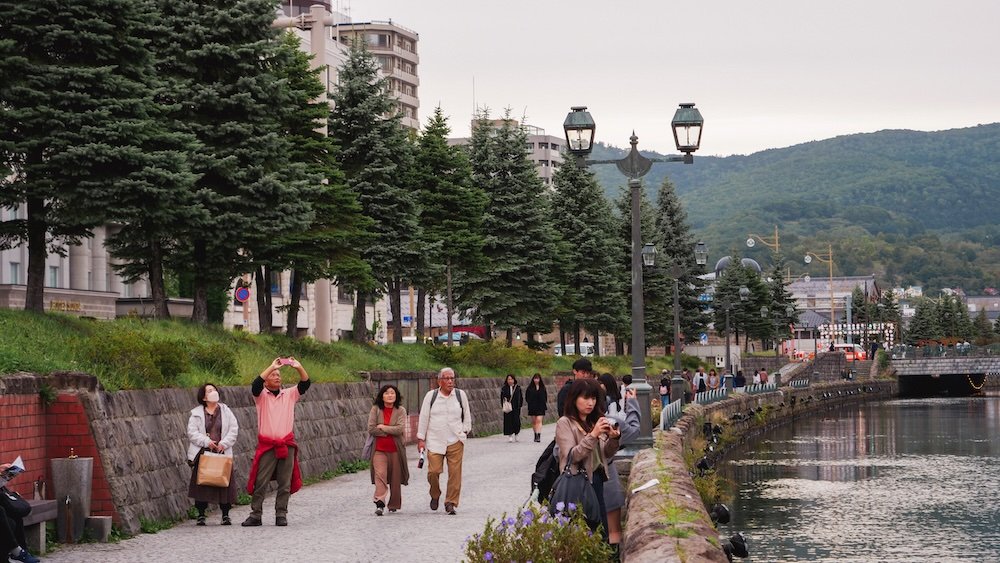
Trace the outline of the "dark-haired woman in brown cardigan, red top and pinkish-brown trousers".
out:
[[[406,409],[400,406],[403,396],[395,385],[383,385],[375,395],[375,404],[368,413],[368,434],[375,437],[371,458],[372,484],[375,485],[375,515],[382,516],[385,499],[389,497],[389,512],[403,506],[401,485],[410,484],[403,445]]]

